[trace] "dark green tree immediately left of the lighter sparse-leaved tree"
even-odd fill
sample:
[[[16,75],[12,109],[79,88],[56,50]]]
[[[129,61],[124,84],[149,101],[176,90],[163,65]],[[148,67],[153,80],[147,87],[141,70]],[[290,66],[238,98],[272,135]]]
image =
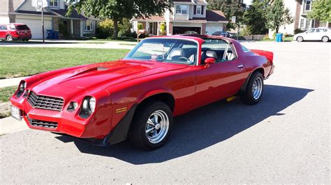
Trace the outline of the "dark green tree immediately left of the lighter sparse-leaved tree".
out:
[[[269,0],[253,0],[244,13],[247,29],[253,35],[267,33],[267,8]]]

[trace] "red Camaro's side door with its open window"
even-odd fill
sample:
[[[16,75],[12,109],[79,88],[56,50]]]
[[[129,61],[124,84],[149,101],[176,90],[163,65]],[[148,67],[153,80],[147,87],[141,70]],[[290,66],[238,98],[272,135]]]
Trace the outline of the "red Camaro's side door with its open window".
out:
[[[224,43],[221,45],[224,46]],[[216,51],[216,63],[205,67],[202,61],[200,70],[196,72],[194,108],[230,97],[237,93],[244,83],[243,63],[240,58],[237,57],[235,48],[232,44],[226,43],[226,48],[224,48],[222,53],[221,48],[223,48],[223,46],[221,45],[214,46],[214,48],[207,48],[207,50],[205,49],[202,53],[203,60],[204,52]]]

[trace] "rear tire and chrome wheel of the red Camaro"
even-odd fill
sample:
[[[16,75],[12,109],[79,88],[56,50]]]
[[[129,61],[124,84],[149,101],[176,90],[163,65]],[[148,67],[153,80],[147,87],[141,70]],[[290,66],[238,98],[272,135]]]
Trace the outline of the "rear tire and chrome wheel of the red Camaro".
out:
[[[249,105],[258,104],[263,95],[264,83],[263,75],[260,72],[251,74],[246,90],[241,95],[242,102]]]

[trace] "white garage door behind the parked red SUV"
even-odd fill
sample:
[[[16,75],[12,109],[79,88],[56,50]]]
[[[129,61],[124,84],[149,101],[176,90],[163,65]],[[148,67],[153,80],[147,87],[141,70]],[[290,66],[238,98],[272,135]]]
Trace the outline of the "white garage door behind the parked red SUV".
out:
[[[27,24],[29,26],[32,38],[43,38],[43,29],[41,29],[41,20],[36,19],[16,19],[17,23]],[[52,21],[44,20],[45,38],[47,38],[47,29],[52,29]]]

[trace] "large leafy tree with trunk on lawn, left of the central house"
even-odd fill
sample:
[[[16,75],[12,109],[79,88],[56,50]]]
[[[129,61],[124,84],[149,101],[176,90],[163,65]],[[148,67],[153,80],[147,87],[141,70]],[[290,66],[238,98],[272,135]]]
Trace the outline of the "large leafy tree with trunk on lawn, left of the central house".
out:
[[[73,8],[78,12],[84,12],[87,16],[94,16],[100,19],[112,19],[114,22],[114,38],[118,34],[118,22],[123,18],[149,17],[151,15],[163,15],[166,8],[170,8],[171,1],[154,0],[75,0],[69,1],[69,11]]]

